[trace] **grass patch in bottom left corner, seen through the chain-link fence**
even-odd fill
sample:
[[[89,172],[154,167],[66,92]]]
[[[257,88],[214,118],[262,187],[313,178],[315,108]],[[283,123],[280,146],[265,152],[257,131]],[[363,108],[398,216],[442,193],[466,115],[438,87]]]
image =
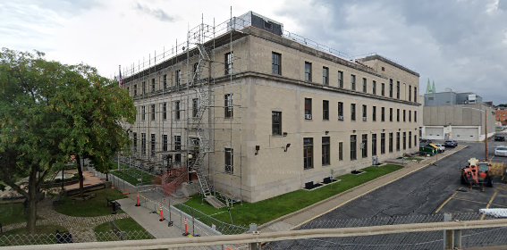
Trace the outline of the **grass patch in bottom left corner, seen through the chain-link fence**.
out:
[[[57,225],[36,226],[36,235],[32,236],[15,236],[27,235],[26,228],[13,229],[0,235],[0,246],[21,246],[21,245],[45,245],[56,244],[56,230],[60,232],[68,232],[67,229]]]

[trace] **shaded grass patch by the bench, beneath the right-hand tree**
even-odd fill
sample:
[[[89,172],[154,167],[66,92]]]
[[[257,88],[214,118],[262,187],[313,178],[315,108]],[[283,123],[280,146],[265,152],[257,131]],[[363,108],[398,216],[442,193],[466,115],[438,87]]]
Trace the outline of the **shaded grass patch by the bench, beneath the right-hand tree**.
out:
[[[72,197],[64,197],[61,204],[55,205],[56,212],[70,216],[92,217],[111,214],[111,207],[107,206],[106,198],[117,200],[124,196],[120,191],[112,188],[100,189],[86,194],[95,194],[96,196],[87,200],[72,200]]]

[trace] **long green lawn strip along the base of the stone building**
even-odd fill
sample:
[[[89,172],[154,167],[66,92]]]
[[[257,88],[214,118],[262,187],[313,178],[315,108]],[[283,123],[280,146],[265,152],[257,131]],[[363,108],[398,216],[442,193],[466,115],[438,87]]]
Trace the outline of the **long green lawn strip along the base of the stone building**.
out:
[[[227,223],[233,223],[236,225],[249,225],[249,223],[257,223],[258,225],[261,225],[268,221],[273,221],[276,218],[282,217],[285,214],[296,212],[302,208],[307,207],[308,205],[316,204],[317,202],[325,200],[326,198],[340,194],[343,191],[351,189],[352,187],[357,187],[360,184],[368,182],[369,180],[376,179],[390,172],[400,170],[401,168],[402,167],[398,165],[368,167],[362,170],[366,171],[363,174],[345,174],[337,178],[341,179],[341,181],[334,182],[333,184],[329,184],[325,187],[320,187],[312,191],[300,189],[291,193],[284,194],[282,196],[276,196],[264,201],[260,201],[255,204],[237,204],[232,207],[231,214],[227,212],[227,208],[217,210],[206,202],[203,203],[200,196],[193,196],[185,204],[208,215],[214,214],[213,217],[215,217],[215,219],[225,221]],[[184,212],[188,212],[190,214],[188,208],[185,208],[182,205],[176,206],[179,209],[182,209]],[[199,220],[205,223],[210,223],[204,218],[199,218]]]

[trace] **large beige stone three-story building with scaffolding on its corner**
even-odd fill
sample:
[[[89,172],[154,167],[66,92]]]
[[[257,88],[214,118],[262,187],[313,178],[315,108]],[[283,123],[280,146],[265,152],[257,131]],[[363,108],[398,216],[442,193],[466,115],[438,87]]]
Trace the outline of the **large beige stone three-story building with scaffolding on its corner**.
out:
[[[132,162],[193,171],[199,158],[205,184],[257,202],[418,151],[417,72],[376,54],[344,59],[254,12],[222,34],[199,27],[189,39],[212,37],[202,46],[125,79],[138,108]]]

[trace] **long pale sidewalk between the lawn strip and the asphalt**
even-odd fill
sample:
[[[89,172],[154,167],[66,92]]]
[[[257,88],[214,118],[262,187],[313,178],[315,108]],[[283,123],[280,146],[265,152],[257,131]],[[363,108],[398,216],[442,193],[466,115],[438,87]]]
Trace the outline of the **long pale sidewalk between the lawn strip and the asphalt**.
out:
[[[427,157],[427,159],[421,162],[407,162],[399,171],[394,171],[390,174],[384,175],[377,179],[373,179],[359,185],[358,187],[353,187],[341,194],[325,199],[324,201],[318,202],[317,204],[310,205],[306,208],[301,209],[297,212],[292,212],[283,217],[280,217],[274,221],[269,221],[264,225],[259,227],[259,230],[263,232],[272,232],[272,231],[282,231],[282,230],[292,230],[300,227],[301,225],[308,223],[308,221],[315,220],[317,217],[331,212],[336,208],[341,207],[344,204],[348,204],[351,201],[359,198],[360,196],[365,196],[370,192],[375,191],[380,187],[384,187],[388,184],[393,183],[394,181],[401,179],[405,176],[410,175],[415,171],[419,171],[436,161],[442,160],[445,157],[455,154],[467,146],[458,146],[452,150],[447,150],[443,154],[437,154],[436,156]]]

